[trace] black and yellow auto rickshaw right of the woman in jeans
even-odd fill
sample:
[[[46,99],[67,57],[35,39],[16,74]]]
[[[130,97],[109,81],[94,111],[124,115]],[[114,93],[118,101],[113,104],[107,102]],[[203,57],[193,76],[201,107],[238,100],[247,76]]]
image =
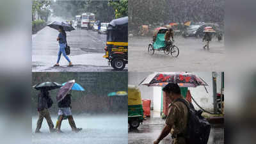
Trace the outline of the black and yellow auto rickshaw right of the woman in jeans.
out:
[[[106,54],[111,67],[123,70],[128,63],[128,17],[112,20],[107,29]]]

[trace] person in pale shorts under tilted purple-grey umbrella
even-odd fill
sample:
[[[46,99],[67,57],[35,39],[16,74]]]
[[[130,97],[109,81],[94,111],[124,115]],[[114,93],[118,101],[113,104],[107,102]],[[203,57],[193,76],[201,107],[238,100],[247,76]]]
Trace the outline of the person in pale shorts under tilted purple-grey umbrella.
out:
[[[60,127],[61,127],[61,122],[64,118],[64,116],[67,116],[68,118],[68,123],[74,132],[79,132],[82,130],[82,128],[77,128],[76,124],[74,122],[74,118],[71,113],[71,90],[72,87],[75,84],[75,80],[68,81],[67,83],[64,84],[60,88],[60,91],[58,92],[58,95],[56,97],[57,102],[58,102],[58,122],[56,125],[58,125],[58,132],[61,132]]]

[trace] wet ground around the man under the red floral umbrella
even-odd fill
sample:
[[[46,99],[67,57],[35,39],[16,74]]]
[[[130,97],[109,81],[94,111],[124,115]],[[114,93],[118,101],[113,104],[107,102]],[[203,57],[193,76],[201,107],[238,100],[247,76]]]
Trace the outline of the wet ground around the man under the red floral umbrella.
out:
[[[128,132],[128,143],[129,144],[149,144],[153,143],[157,139],[164,127],[164,120],[161,118],[154,118],[151,122],[145,121],[143,125],[140,125],[136,130],[129,130]],[[161,144],[172,143],[172,136],[168,134],[164,138]],[[224,143],[224,128],[223,127],[212,127],[209,136],[208,144],[223,144]]]

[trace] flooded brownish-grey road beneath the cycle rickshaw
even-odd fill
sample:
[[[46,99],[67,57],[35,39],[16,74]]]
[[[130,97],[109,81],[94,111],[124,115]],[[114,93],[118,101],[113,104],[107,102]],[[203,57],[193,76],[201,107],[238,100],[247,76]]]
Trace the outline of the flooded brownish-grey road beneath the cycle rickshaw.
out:
[[[212,38],[214,39],[214,38]],[[175,37],[179,56],[163,51],[148,54],[152,37],[129,37],[129,71],[221,71],[225,68],[224,42],[212,40],[209,51],[204,50],[202,39]]]

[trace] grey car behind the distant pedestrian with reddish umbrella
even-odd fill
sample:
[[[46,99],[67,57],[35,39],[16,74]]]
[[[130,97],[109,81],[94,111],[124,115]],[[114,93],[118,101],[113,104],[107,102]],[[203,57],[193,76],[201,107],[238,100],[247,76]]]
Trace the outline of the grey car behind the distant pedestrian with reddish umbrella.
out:
[[[220,26],[218,26],[218,24],[204,23],[201,25],[189,26],[185,31],[183,31],[182,36],[185,38],[186,37],[202,38],[204,36],[204,28],[207,26],[211,26],[212,29],[214,29],[216,32],[220,31]]]

